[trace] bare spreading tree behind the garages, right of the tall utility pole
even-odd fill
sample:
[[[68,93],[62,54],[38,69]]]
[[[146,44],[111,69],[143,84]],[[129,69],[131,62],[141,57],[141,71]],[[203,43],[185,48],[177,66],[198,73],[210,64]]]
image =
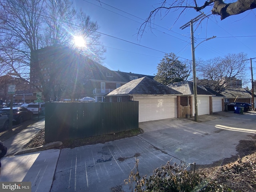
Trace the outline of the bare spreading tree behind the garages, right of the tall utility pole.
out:
[[[216,92],[234,87],[237,80],[246,83],[246,54],[228,54],[198,64],[198,85],[209,86]]]

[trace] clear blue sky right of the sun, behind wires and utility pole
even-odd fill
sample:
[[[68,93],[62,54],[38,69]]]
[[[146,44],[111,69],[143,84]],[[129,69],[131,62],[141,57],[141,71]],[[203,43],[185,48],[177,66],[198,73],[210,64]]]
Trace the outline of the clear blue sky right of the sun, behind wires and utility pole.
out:
[[[152,29],[147,27],[143,36],[138,38],[137,33],[142,22],[159,3],[160,0],[74,0],[73,5],[76,10],[82,9],[92,21],[98,22],[99,32],[109,35],[101,36],[101,42],[107,50],[104,66],[111,70],[154,75],[164,53],[173,52],[178,57],[192,60],[190,27],[184,30],[180,27],[200,14],[192,9],[186,10],[177,22],[175,21],[181,10],[169,12],[162,19],[158,14],[153,20],[155,25],[152,24]],[[209,14],[210,9],[204,10],[204,13]],[[202,42],[196,48],[196,58],[208,60],[239,52],[246,53],[248,58],[255,58],[255,23],[256,9],[222,21],[220,16],[210,16],[200,26],[194,24],[195,46],[206,38],[217,36]],[[256,59],[253,61],[255,80]],[[247,65],[249,72],[250,61]]]

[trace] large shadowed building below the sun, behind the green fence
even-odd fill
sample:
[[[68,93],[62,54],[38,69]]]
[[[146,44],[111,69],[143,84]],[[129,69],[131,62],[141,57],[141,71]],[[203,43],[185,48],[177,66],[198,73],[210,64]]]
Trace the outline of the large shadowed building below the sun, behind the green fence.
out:
[[[89,96],[96,102],[105,102],[105,95],[112,90],[146,76],[112,71],[66,46],[48,46],[36,53],[40,70],[31,68],[30,81],[40,89],[50,87],[48,95],[51,100],[70,99],[70,95],[74,94],[73,99]],[[45,85],[41,84],[40,77]]]

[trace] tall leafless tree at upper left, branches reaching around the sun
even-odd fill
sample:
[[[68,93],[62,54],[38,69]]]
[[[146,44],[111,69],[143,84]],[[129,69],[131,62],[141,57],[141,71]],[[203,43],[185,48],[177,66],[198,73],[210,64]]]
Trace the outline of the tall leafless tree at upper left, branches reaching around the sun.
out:
[[[0,73],[15,72],[31,80],[33,71],[36,88],[48,100],[56,76],[49,72],[49,81],[45,80],[38,49],[52,45],[75,48],[73,37],[82,35],[88,38],[87,48],[79,51],[93,60],[102,59],[105,49],[96,32],[98,24],[82,12],[77,13],[69,0],[2,0],[0,10],[0,64],[4,66]]]

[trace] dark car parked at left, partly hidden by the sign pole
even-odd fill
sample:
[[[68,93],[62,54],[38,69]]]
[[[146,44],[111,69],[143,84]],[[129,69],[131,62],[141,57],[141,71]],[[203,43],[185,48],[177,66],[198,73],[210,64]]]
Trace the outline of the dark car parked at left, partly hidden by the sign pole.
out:
[[[0,110],[0,114],[9,116],[10,108],[3,108]],[[14,107],[12,108],[12,118],[13,121],[18,124],[22,123],[24,120],[32,119],[33,113],[24,107]]]

